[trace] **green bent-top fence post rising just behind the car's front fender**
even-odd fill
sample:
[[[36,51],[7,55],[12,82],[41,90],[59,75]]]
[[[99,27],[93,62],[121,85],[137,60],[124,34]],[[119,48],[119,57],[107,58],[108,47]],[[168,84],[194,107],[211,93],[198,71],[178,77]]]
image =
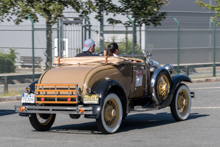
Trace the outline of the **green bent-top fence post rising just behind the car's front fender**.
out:
[[[177,21],[175,17],[173,17],[173,20],[177,23],[177,73],[180,73],[180,23]]]

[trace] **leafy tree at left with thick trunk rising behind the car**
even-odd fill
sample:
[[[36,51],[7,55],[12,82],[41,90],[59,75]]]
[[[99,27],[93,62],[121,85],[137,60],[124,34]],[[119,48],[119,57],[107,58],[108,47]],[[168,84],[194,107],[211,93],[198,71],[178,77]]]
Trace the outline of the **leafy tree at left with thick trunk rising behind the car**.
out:
[[[52,25],[58,17],[63,17],[63,10],[72,7],[80,13],[83,8],[83,2],[80,0],[3,0],[0,2],[0,21],[7,19],[13,20],[15,24],[20,24],[24,19],[28,19],[29,14],[34,22],[38,22],[38,15],[46,19],[46,68],[52,67]],[[88,11],[81,11],[87,14]],[[13,17],[15,16],[15,17]]]

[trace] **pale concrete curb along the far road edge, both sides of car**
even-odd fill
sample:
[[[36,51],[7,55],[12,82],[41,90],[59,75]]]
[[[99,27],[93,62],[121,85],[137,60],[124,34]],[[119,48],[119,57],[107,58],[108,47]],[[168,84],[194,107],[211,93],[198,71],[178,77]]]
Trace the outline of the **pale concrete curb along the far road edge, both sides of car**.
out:
[[[220,77],[192,79],[192,83],[217,82],[217,81],[220,81]],[[0,97],[0,102],[20,101],[20,100],[21,100],[21,95]]]

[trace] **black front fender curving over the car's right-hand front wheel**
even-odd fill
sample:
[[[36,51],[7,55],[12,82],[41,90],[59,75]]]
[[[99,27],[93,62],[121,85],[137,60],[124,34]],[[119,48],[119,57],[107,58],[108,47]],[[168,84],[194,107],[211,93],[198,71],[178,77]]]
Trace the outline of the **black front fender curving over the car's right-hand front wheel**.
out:
[[[172,77],[172,88],[170,90],[170,93],[167,96],[167,99],[160,105],[159,109],[165,108],[166,106],[169,106],[171,104],[174,92],[176,91],[179,84],[183,81],[192,83],[191,79],[185,75],[176,75]]]

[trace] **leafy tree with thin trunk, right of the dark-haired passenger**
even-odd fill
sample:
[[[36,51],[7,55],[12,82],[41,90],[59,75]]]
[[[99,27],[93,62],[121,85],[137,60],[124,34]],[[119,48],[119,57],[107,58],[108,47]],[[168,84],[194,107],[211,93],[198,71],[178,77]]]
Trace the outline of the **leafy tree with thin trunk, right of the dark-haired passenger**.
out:
[[[88,0],[90,1],[90,0]],[[122,22],[117,19],[117,15],[131,16],[134,21],[134,24],[137,26],[145,25],[161,25],[161,21],[165,19],[166,13],[160,12],[164,4],[168,4],[168,0],[118,0],[118,5],[113,4],[112,0],[103,1],[95,0],[90,1],[90,4],[95,5],[96,7],[103,6],[103,11],[106,15],[109,13],[113,14],[113,18],[109,18],[107,21],[109,24],[124,24],[131,26],[131,22],[128,20]],[[103,19],[102,10],[95,9],[97,12],[96,19],[101,21]],[[136,34],[136,27],[135,27]],[[136,36],[136,35],[135,35]],[[135,37],[136,38],[136,37]],[[134,38],[134,39],[135,39]],[[135,39],[136,44],[136,39]],[[137,49],[137,46],[136,46]]]

